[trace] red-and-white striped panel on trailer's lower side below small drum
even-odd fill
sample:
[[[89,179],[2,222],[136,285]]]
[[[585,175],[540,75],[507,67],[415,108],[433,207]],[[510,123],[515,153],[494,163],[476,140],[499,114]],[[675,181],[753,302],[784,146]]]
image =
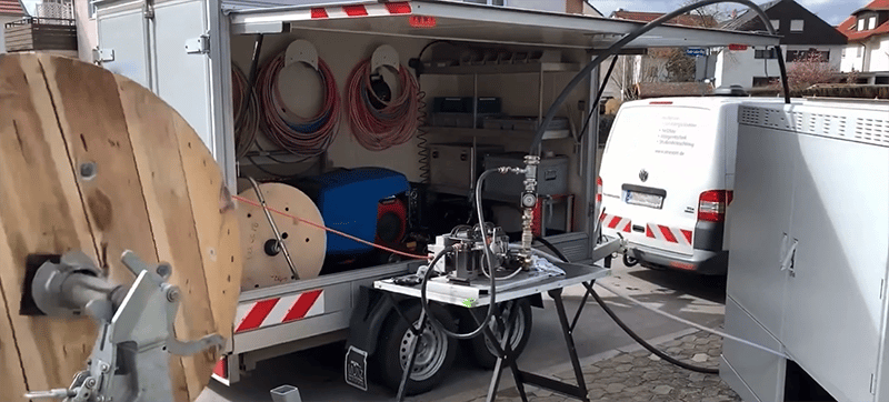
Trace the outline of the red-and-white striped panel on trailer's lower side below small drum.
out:
[[[323,313],[322,289],[243,303],[238,305],[234,332],[252,331]]]

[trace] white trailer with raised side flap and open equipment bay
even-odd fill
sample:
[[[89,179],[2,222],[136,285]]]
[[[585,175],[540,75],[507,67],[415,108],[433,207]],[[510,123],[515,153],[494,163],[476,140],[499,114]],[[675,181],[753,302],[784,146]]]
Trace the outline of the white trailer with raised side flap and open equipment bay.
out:
[[[231,68],[233,63],[244,71],[250,70],[251,54],[260,36],[264,38],[260,61],[296,39],[310,41],[331,67],[340,88],[352,67],[370,57],[380,44],[394,48],[404,66],[434,40],[455,41],[460,46],[555,51],[558,54],[555,61],[428,68],[420,78],[427,99],[496,96],[511,114],[540,115],[597,50],[641,26],[632,21],[452,1],[319,2],[321,4],[311,6],[282,0],[98,0],[100,44],[94,53],[104,68],[146,86],[178,110],[211,150],[233,189],[239,172],[257,172],[236,158]],[[632,41],[629,48],[638,52],[651,47],[731,43],[765,47],[777,44],[778,39],[666,26]],[[593,73],[590,84],[576,91],[567,102],[570,111],[566,113],[578,128],[598,88],[599,74]],[[592,235],[598,221],[596,115],[589,127],[589,132],[545,143],[545,150],[568,155],[568,187],[576,199],[570,214],[572,230],[548,240],[578,262],[590,261],[597,243],[597,237]],[[353,141],[348,124],[342,123],[340,130],[342,132],[323,158],[328,164],[383,167],[404,173],[411,181],[420,180],[422,163],[417,157],[420,139],[371,152]],[[430,128],[427,139],[433,142],[460,140],[472,144],[473,149],[480,143],[495,143],[507,151],[527,151],[531,138],[512,131]],[[262,157],[257,160],[270,162]],[[434,174],[431,189],[448,191],[443,185],[437,188]],[[262,305],[260,310],[272,311],[276,305],[287,305],[302,297],[314,300],[316,304],[297,320],[277,320],[267,312],[251,316],[250,325],[243,325],[242,331],[236,323],[234,335],[228,341],[227,358],[214,378],[232,383],[257,361],[346,339],[350,318],[358,315],[353,314],[357,308],[363,312],[373,311],[372,316],[359,320],[369,331],[364,336],[364,350],[372,355],[380,326],[391,311],[359,305],[361,289],[376,279],[403,274],[418,264],[383,264],[243,291],[239,306],[241,323],[257,305]]]

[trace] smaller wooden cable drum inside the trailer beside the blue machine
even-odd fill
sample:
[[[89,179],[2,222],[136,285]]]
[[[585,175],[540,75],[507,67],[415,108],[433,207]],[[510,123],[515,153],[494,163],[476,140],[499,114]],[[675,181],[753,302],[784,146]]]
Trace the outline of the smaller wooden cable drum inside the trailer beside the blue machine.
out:
[[[299,279],[318,277],[327,252],[327,232],[319,228],[323,227],[324,221],[318,207],[302,191],[283,183],[259,184],[259,191],[270,210],[316,224],[310,225],[278,212],[271,213],[290,252]],[[256,190],[252,188],[248,187],[248,190],[239,195],[259,203]],[[241,250],[243,250],[241,289],[250,290],[291,282],[292,271],[283,252],[277,248],[274,232],[262,209],[241,203],[238,207],[238,215],[241,223]]]

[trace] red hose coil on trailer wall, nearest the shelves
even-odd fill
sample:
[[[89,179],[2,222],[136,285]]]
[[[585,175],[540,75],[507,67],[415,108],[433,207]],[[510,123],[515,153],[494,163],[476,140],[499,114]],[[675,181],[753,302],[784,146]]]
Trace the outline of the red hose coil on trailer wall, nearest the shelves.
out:
[[[410,141],[419,125],[420,89],[417,79],[399,66],[401,93],[386,101],[371,87],[370,59],[358,63],[346,84],[346,107],[354,139],[366,149],[382,151]],[[374,97],[372,100],[370,97]],[[373,103],[382,108],[377,109]]]

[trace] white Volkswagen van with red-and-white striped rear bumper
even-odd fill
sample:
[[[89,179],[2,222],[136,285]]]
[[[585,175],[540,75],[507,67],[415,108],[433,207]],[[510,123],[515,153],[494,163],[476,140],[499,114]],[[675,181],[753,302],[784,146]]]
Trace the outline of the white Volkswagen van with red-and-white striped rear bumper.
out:
[[[726,274],[738,105],[751,100],[660,98],[620,108],[598,197],[602,234],[629,242],[625,263]]]

